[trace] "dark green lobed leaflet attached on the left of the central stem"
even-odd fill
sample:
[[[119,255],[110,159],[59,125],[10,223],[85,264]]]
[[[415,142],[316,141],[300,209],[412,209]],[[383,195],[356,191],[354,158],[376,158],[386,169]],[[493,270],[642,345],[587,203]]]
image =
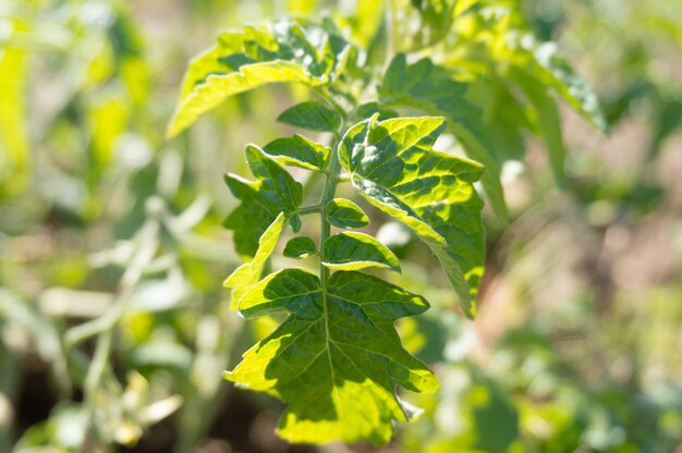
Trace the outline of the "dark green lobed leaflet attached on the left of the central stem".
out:
[[[234,248],[245,259],[258,249],[258,241],[280,212],[293,217],[303,199],[303,187],[282,166],[254,145],[246,147],[246,161],[257,181],[226,175],[232,194],[242,200],[224,221],[234,231]]]

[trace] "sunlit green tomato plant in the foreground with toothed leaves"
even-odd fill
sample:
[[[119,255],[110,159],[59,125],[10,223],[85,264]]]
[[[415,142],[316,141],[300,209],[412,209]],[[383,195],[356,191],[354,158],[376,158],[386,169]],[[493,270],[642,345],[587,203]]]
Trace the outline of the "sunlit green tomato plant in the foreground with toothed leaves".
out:
[[[523,157],[523,134],[545,142],[563,181],[557,98],[606,128],[587,84],[556,45],[532,35],[513,2],[390,3],[382,46],[356,44],[331,19],[222,33],[191,63],[168,131],[173,137],[228,97],[263,85],[303,85],[312,95],[278,121],[317,135],[247,145],[255,181],[226,175],[241,204],[224,225],[246,261],[224,282],[232,308],[281,322],[224,377],[285,401],[278,432],[292,442],[386,443],[393,420],[419,412],[397,388],[438,388],[394,327],[429,304],[390,282],[387,272],[401,270],[393,252],[353,231],[370,231],[366,210],[402,222],[429,247],[473,318],[485,265],[475,184],[506,223],[500,169]],[[401,23],[407,17],[419,24],[414,33]],[[438,149],[444,133],[459,148]],[[342,185],[353,199],[338,196]],[[310,218],[315,238],[301,234],[313,231]],[[282,237],[284,256],[304,261],[270,272]]]

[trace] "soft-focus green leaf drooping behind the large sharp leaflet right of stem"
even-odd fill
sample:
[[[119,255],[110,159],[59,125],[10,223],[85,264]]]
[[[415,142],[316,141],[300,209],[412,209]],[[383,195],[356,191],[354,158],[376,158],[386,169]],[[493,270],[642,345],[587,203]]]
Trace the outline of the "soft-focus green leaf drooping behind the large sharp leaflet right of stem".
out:
[[[467,90],[467,84],[453,79],[444,68],[435,65],[428,59],[409,65],[404,53],[399,53],[386,71],[379,96],[389,106],[411,106],[430,114],[444,115],[466,155],[486,168],[480,183],[496,216],[507,223],[507,205],[496,150],[482,111],[466,99]]]

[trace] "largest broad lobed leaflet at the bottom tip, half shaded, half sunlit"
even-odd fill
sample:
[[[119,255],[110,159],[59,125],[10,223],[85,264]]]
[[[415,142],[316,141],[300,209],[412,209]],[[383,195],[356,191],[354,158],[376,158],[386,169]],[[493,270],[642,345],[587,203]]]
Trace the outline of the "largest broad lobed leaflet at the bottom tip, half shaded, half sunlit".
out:
[[[436,376],[401,345],[393,322],[428,303],[360,272],[336,272],[322,291],[304,269],[265,278],[240,302],[246,317],[289,313],[268,338],[224,377],[289,403],[278,433],[290,442],[388,442],[392,420],[415,412],[395,385],[434,392]]]

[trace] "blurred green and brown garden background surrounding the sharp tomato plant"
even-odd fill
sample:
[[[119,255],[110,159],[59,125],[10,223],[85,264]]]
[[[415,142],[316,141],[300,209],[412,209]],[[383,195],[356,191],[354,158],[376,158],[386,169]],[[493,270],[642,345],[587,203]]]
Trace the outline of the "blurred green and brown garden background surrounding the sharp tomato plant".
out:
[[[240,95],[163,134],[221,28],[326,11],[379,33],[382,3],[0,1],[0,452],[682,452],[682,2],[513,3],[610,134],[562,109],[562,188],[524,135],[474,322],[429,254],[379,230],[434,306],[400,330],[441,390],[406,395],[424,416],[377,449],[288,445],[281,405],[221,378],[272,329],[229,311],[222,174],[246,175],[244,145],[281,135],[305,91]]]

